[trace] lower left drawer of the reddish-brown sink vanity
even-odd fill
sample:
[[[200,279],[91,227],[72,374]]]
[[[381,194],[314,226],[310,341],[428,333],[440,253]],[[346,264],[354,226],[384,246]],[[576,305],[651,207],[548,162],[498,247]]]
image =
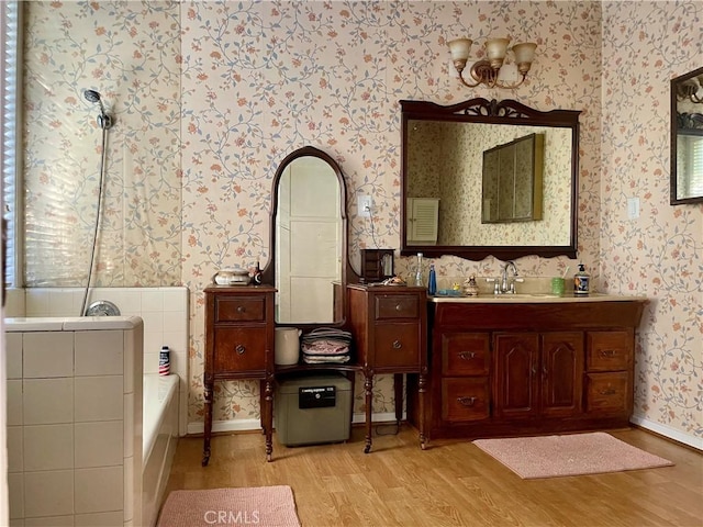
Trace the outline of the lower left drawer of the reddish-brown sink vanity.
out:
[[[442,419],[479,421],[490,416],[488,377],[442,380]]]

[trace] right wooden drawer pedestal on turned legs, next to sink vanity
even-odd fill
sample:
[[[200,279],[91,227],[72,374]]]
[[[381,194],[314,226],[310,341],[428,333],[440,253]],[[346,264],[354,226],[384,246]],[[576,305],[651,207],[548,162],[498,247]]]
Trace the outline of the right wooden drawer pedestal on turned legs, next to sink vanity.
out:
[[[427,292],[424,288],[349,284],[349,326],[357,361],[364,373],[366,447],[371,449],[373,375],[394,374],[395,418],[401,421],[403,373],[419,374],[417,400],[422,414],[427,375]],[[424,417],[419,419],[420,444],[425,447]]]

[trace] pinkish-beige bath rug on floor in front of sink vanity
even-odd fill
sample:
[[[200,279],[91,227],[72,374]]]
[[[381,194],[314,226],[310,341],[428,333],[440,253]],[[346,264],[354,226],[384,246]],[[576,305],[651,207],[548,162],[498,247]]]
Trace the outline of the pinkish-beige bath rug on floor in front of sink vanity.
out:
[[[473,445],[526,480],[654,469],[673,464],[603,431],[477,439]]]

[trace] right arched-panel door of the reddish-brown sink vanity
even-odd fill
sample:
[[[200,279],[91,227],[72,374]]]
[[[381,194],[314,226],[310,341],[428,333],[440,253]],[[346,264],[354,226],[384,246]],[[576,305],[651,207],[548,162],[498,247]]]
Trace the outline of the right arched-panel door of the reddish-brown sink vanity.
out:
[[[583,385],[583,334],[542,335],[542,414],[568,416],[581,412]]]

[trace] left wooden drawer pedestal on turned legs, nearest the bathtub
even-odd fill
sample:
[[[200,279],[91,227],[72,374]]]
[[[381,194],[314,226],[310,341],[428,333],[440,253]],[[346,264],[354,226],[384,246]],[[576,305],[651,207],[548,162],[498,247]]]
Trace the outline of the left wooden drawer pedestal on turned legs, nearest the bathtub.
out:
[[[261,428],[271,459],[274,383],[274,294],[269,285],[211,285],[205,289],[205,429],[202,466],[210,461],[215,381],[260,381]]]

